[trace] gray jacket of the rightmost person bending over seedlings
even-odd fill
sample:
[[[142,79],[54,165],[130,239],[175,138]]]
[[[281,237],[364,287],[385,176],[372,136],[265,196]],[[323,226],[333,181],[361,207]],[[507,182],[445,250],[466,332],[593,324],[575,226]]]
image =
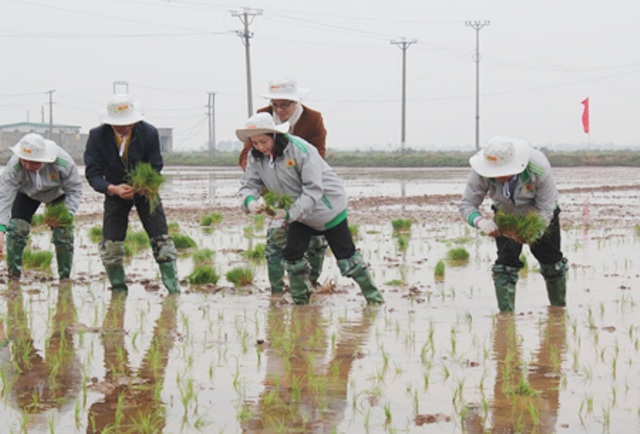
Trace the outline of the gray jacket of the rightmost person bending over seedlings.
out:
[[[518,215],[535,211],[549,224],[558,206],[558,190],[549,160],[542,152],[531,149],[529,164],[518,176],[511,198],[504,196],[502,187],[503,184],[495,178],[483,178],[475,171],[471,172],[460,204],[462,218],[475,226],[475,222],[482,216],[478,208],[488,195],[498,209]]]

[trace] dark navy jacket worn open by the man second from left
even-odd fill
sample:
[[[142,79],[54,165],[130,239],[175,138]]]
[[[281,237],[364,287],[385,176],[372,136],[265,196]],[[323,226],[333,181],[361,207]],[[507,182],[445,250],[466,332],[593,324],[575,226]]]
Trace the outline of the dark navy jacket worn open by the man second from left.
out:
[[[153,125],[140,121],[133,126],[126,167],[118,155],[111,125],[100,125],[89,132],[84,151],[84,174],[95,191],[107,193],[110,184],[126,183],[127,172],[139,162],[150,163],[158,172],[164,165],[158,130]]]

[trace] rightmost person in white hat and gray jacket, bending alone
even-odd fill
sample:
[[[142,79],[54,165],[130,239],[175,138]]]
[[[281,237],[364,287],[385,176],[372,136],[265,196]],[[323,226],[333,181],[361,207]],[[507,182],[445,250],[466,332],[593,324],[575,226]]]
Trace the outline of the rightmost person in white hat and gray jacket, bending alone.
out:
[[[471,226],[496,238],[498,258],[493,265],[493,281],[501,312],[515,307],[522,244],[502,236],[495,221],[484,217],[478,208],[485,196],[494,210],[524,216],[533,211],[547,223],[547,228],[529,245],[540,263],[549,302],[566,304],[567,260],[560,251],[560,208],[551,165],[544,154],[520,139],[494,137],[469,159],[473,171],[460,204],[460,214]]]

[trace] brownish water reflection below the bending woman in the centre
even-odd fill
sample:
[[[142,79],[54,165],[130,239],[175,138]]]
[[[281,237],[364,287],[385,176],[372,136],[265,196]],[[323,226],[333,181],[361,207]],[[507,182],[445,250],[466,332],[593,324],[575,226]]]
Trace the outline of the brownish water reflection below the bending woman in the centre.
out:
[[[349,373],[375,321],[364,309],[327,339],[321,306],[270,308],[266,376],[258,403],[247,403],[246,432],[336,432],[347,406]],[[326,360],[328,346],[332,357]]]

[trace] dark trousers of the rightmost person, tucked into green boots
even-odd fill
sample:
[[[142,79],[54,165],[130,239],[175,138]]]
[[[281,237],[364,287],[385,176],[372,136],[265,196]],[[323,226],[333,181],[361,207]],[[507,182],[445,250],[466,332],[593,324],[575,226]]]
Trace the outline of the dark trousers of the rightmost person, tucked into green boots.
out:
[[[506,237],[497,237],[498,259],[496,265],[508,265],[510,267],[522,268],[524,264],[520,261],[522,244]],[[540,264],[550,265],[560,261],[564,256],[560,251],[560,208],[556,208],[549,227],[535,243],[529,246],[531,254]]]

